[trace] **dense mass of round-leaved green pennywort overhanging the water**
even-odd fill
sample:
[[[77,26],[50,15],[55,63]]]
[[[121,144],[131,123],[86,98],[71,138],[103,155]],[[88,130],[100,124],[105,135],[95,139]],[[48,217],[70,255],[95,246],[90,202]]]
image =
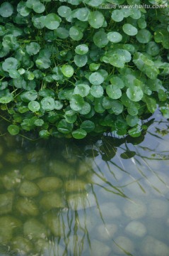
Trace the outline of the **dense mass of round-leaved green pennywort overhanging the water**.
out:
[[[140,135],[144,114],[168,99],[169,5],[120,4],[141,1],[1,2],[0,107],[10,134]],[[167,104],[161,111],[169,117]]]

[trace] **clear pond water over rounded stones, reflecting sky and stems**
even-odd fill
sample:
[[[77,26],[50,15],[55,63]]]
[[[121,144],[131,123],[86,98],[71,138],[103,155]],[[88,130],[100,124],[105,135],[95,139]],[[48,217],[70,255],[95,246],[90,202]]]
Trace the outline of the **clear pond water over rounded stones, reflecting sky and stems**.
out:
[[[0,255],[168,256],[168,121],[147,125],[135,139],[1,136]]]

